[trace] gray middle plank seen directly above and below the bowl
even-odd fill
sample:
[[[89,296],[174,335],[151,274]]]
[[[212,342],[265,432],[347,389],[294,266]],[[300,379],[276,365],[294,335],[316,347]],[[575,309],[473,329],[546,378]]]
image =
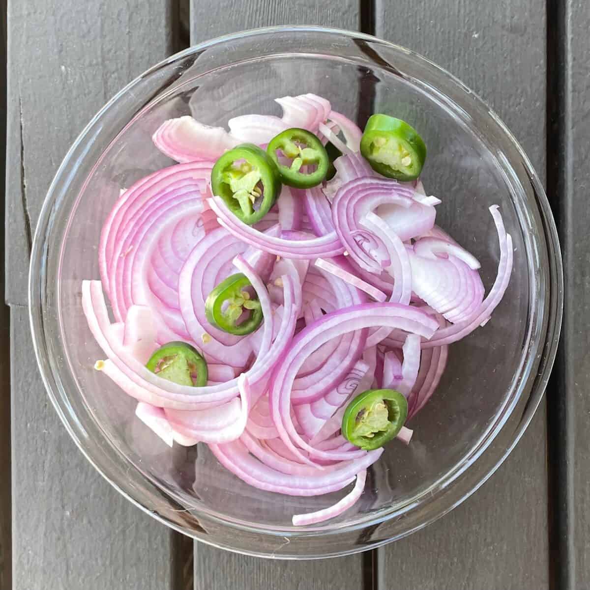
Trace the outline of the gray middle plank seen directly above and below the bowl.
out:
[[[297,2],[281,0],[191,0],[193,44],[233,31],[278,24],[309,24],[358,30],[357,0]],[[359,590],[363,584],[360,555],[315,562],[276,562],[222,552],[195,543],[195,590]]]

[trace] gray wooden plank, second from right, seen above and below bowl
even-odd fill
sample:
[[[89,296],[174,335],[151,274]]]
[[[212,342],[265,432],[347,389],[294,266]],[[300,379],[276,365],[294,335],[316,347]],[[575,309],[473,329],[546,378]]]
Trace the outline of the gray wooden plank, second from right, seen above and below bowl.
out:
[[[376,0],[376,34],[447,68],[484,98],[545,172],[545,3]],[[379,550],[380,589],[549,586],[546,407],[471,499]],[[393,582],[395,580],[395,582]]]

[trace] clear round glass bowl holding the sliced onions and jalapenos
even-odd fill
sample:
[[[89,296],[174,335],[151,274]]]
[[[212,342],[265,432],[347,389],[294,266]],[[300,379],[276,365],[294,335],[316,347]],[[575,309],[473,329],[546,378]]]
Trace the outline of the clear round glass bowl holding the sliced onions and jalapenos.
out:
[[[275,113],[274,97],[313,92],[363,126],[395,113],[428,145],[423,181],[442,198],[437,222],[496,275],[499,204],[514,270],[491,322],[451,346],[435,396],[389,445],[353,509],[295,528],[340,494],[297,498],[256,490],[205,445],[168,448],[133,414],[135,401],[93,370],[102,357],[80,303],[99,278],[100,229],[119,189],[171,161],[151,142],[165,119],[193,113],[223,125]],[[197,45],[120,91],[84,129],[45,199],[31,260],[38,363],[58,414],[89,461],[133,503],[195,539],[252,555],[319,558],[399,539],[476,490],[510,453],[543,395],[562,309],[558,237],[543,188],[514,137],[467,87],[402,47],[355,32],[267,28]],[[498,498],[498,501],[503,501]]]

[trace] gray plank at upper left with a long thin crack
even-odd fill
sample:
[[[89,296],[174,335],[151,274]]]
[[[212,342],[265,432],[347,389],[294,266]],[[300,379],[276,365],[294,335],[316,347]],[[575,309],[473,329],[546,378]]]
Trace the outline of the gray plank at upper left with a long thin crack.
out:
[[[27,303],[32,234],[51,179],[90,118],[172,50],[172,0],[9,0],[8,303]]]

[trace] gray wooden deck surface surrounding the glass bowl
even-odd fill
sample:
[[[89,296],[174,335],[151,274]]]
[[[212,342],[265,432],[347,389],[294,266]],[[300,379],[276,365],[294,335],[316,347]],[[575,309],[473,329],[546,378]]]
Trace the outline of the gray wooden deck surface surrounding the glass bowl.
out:
[[[131,78],[187,44],[275,24],[376,34],[461,78],[500,114],[546,180],[565,263],[564,334],[547,401],[500,470],[415,535],[315,562],[278,563],[201,543],[193,550],[191,540],[116,493],[51,407],[32,364],[26,307],[41,203],[90,117]],[[0,590],[590,588],[589,30],[588,0],[8,0],[12,414],[8,424],[5,368],[0,447],[11,432],[12,568],[5,477]],[[6,350],[8,312],[2,319]],[[0,358],[6,364],[8,353]],[[8,459],[0,453],[0,473]]]

